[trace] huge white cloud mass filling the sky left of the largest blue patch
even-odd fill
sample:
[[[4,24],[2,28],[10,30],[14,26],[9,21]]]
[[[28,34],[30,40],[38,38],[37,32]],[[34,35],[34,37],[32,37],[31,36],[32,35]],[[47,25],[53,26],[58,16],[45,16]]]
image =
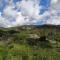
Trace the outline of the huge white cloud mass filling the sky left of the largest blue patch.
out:
[[[2,16],[2,18],[5,18],[5,27],[35,24],[42,17],[39,15],[41,8],[39,0],[22,0],[17,2],[16,5],[13,0],[6,0],[6,2],[8,5],[3,10]]]

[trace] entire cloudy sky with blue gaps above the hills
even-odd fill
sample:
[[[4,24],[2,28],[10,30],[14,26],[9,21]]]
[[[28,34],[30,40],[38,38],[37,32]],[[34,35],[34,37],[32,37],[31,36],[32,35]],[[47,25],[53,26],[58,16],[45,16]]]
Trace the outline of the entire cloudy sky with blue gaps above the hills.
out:
[[[60,0],[0,0],[0,27],[60,25]]]

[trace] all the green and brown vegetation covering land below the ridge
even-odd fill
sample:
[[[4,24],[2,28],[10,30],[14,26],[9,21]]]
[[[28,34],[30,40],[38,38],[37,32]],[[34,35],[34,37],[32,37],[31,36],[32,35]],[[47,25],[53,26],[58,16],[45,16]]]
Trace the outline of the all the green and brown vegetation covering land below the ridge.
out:
[[[26,27],[0,29],[0,60],[60,60],[59,27]]]

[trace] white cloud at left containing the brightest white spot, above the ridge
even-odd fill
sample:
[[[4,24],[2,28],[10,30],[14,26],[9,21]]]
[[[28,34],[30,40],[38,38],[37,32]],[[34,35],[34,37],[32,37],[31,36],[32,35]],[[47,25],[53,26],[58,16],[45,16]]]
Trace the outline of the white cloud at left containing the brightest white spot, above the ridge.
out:
[[[11,6],[4,9],[4,17],[6,18],[5,21],[8,23],[8,27],[22,25],[25,23],[24,16],[21,14],[21,12],[14,10],[14,8]]]

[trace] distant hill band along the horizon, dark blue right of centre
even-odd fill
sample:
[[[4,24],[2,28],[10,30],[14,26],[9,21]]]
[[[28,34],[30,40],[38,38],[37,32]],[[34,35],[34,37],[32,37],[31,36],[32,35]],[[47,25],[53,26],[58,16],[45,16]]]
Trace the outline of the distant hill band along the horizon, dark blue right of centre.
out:
[[[0,29],[3,30],[15,30],[15,29],[41,29],[41,28],[51,28],[51,29],[59,29],[60,30],[60,25],[23,25],[23,26],[16,26],[16,27],[10,27],[10,28],[3,28],[0,27]]]

